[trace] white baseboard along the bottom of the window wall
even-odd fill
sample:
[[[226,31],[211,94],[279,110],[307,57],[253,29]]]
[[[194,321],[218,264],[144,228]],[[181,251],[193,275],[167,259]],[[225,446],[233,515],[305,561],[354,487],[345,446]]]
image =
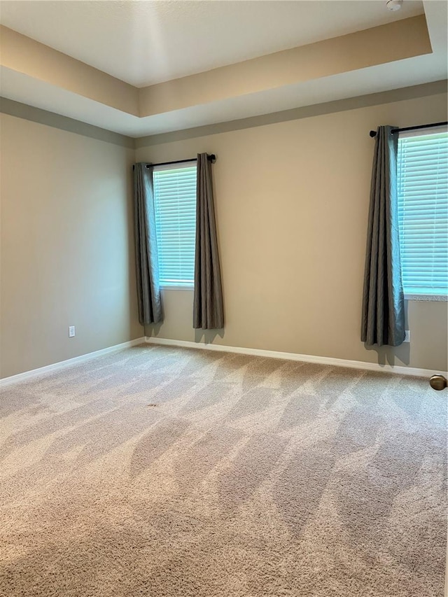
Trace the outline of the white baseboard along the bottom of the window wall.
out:
[[[204,344],[203,342],[187,342],[186,340],[172,340],[146,336],[148,344],[164,344],[166,346],[181,346],[188,349],[202,349],[208,351],[221,351],[252,356],[265,356],[268,358],[283,358],[285,360],[300,360],[303,363],[317,363],[318,365],[332,365],[335,367],[351,367],[352,369],[365,369],[369,371],[382,371],[384,373],[398,373],[400,375],[412,375],[414,377],[430,377],[435,373],[442,373],[448,376],[447,372],[432,371],[429,369],[418,369],[416,367],[403,367],[400,365],[379,365],[379,363],[365,363],[363,360],[345,360],[343,358],[330,358],[327,356],[314,356],[309,354],[281,353],[277,351],[265,351],[262,349],[246,349],[240,346],[223,346],[223,344]]]

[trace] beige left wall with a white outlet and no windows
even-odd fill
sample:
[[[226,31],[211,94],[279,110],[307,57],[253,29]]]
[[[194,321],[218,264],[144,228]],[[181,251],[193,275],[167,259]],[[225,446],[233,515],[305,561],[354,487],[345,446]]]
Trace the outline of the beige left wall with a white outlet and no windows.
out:
[[[1,115],[1,377],[142,335],[133,160],[134,150]]]

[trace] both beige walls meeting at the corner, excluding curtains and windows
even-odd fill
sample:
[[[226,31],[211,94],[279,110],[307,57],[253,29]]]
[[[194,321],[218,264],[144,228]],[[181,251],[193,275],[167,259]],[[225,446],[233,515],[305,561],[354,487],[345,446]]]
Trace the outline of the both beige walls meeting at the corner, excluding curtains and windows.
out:
[[[130,165],[200,151],[218,156],[226,327],[204,338],[193,293],[165,290],[165,323],[148,335],[446,370],[447,302],[409,302],[410,344],[377,351],[359,340],[368,131],[446,119],[440,94],[134,153],[1,115],[1,377],[142,335]]]

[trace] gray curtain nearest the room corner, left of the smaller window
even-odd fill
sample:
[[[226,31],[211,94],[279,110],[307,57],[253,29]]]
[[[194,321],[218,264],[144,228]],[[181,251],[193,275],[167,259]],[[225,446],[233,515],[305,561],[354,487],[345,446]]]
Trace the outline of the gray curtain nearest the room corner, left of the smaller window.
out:
[[[134,233],[137,266],[137,300],[141,325],[162,321],[155,210],[153,168],[134,164]]]

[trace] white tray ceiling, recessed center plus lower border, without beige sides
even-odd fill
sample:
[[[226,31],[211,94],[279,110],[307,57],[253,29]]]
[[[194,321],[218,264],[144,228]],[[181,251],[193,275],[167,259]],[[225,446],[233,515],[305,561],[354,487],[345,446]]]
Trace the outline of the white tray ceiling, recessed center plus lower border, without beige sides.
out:
[[[1,94],[130,136],[318,104],[447,77],[447,2],[1,0],[0,23],[138,87],[425,13],[433,53],[145,118],[3,67]],[[391,40],[393,43],[393,40]]]

